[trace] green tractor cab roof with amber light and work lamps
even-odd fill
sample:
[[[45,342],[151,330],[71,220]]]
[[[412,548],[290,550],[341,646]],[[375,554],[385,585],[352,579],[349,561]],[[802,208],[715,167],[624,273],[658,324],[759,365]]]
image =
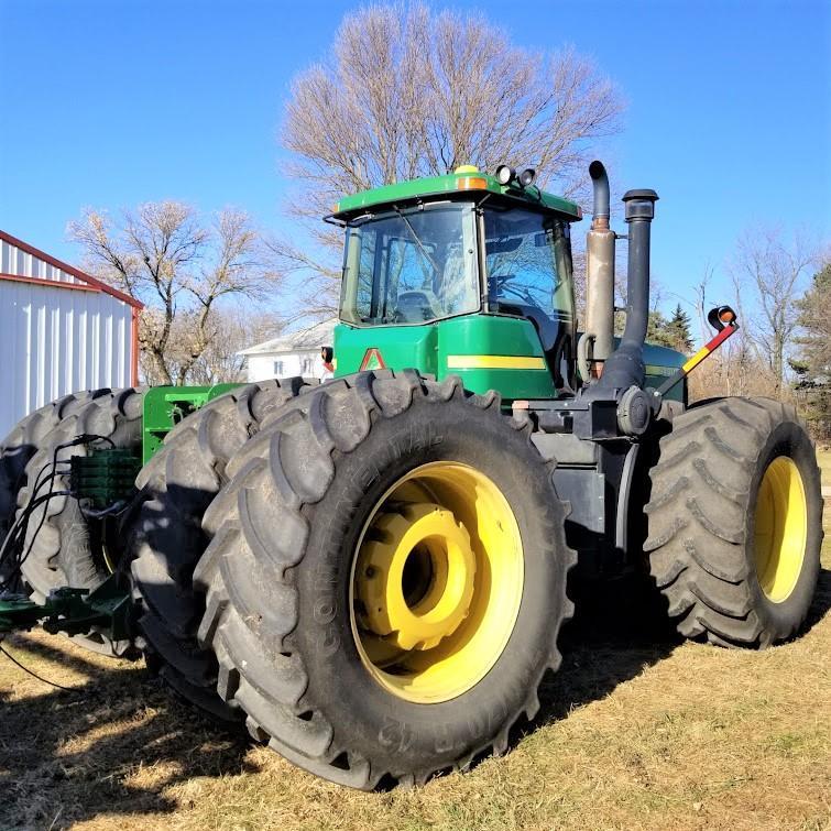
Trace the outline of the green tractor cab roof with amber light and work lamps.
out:
[[[353,196],[345,196],[335,206],[331,217],[349,220],[376,206],[401,205],[444,195],[460,196],[462,194],[474,195],[475,193],[495,194],[502,199],[515,201],[517,207],[522,205],[542,206],[564,215],[564,218],[569,221],[582,219],[583,216],[579,205],[564,199],[561,196],[548,194],[535,185],[529,185],[526,188],[521,187],[515,182],[510,185],[501,185],[495,176],[482,173],[470,165],[464,165],[444,176],[427,176],[408,182],[396,182],[394,185],[384,185],[383,187],[372,188],[372,190],[363,190]]]

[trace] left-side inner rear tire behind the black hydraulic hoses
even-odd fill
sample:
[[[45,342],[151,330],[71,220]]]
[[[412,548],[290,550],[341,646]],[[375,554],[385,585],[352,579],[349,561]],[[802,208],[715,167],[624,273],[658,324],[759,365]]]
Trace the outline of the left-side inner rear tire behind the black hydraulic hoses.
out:
[[[75,403],[77,402],[77,406]],[[23,507],[30,499],[37,474],[51,469],[56,448],[81,434],[101,436],[116,447],[141,448],[142,393],[128,390],[98,390],[88,398],[76,400],[73,406],[62,409],[57,425],[40,442],[37,452],[30,459],[26,484],[20,490],[18,504]],[[78,445],[57,451],[57,460],[66,461],[72,456],[85,456],[87,446]],[[69,486],[68,473],[55,475],[54,490]],[[40,495],[40,494],[39,494]],[[107,551],[102,540],[118,544],[110,537],[105,523],[84,516],[77,500],[72,496],[55,496],[34,509],[29,521],[25,545],[29,555],[22,565],[22,575],[29,584],[31,597],[43,602],[45,597],[59,586],[79,589],[96,589],[118,565],[122,551]],[[128,642],[111,642],[100,632],[76,635],[73,639],[88,649],[105,655],[124,656],[131,653]]]

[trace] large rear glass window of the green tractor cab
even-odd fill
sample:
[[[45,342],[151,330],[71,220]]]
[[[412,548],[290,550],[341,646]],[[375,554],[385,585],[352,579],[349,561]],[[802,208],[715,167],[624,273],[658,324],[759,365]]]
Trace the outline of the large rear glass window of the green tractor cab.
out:
[[[354,326],[424,324],[479,306],[470,204],[394,209],[348,226],[341,320]]]

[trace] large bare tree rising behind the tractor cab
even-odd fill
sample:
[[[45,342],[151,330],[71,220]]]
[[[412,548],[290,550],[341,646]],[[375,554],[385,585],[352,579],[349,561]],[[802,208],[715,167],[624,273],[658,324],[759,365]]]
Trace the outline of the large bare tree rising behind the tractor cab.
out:
[[[331,57],[294,79],[282,138],[304,183],[297,210],[318,219],[345,194],[460,164],[531,164],[540,184],[556,177],[572,194],[589,144],[617,130],[621,110],[612,83],[573,50],[513,46],[478,14],[368,6],[345,19]],[[296,245],[276,250],[315,276],[307,299],[330,315],[338,270]]]

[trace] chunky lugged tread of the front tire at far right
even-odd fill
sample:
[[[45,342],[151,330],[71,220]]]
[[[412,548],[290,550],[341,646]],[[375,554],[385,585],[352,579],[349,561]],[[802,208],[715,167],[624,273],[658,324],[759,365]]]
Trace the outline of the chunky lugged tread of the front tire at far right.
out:
[[[783,423],[803,430],[789,405],[713,400],[678,416],[660,439],[660,458],[649,474],[644,550],[668,613],[686,637],[764,647],[791,636],[801,624],[783,628],[762,620],[761,590],[747,554],[753,473],[768,436]],[[809,494],[809,501],[814,499]]]

